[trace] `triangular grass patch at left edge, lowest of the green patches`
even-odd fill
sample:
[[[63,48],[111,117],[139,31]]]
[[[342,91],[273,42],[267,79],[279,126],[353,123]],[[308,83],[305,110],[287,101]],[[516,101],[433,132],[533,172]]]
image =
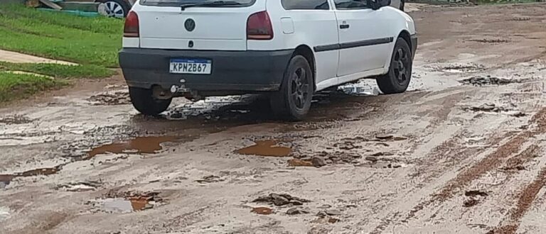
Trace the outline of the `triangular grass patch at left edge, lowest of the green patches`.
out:
[[[62,80],[38,77],[32,74],[0,72],[0,102],[27,98],[39,91],[58,89],[68,85]]]

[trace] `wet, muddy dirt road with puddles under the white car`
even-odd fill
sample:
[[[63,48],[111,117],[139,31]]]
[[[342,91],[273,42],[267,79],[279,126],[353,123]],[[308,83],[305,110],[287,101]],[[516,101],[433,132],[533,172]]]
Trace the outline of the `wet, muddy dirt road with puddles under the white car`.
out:
[[[420,8],[410,91],[305,122],[119,77],[1,109],[0,233],[546,233],[546,5]]]

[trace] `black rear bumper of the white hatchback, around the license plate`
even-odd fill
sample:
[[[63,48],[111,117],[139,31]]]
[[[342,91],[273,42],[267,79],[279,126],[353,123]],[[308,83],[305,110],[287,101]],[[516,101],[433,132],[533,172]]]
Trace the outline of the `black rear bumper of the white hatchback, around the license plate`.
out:
[[[277,91],[294,50],[197,51],[124,48],[119,65],[129,87],[173,85],[189,91]],[[171,74],[172,58],[212,60],[211,74]]]

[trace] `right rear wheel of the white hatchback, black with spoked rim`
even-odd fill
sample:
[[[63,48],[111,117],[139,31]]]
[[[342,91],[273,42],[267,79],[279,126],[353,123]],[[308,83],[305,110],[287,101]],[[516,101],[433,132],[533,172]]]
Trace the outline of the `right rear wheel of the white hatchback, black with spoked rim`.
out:
[[[314,74],[305,57],[291,58],[284,71],[281,89],[269,99],[275,115],[279,118],[301,121],[311,108],[314,92]]]

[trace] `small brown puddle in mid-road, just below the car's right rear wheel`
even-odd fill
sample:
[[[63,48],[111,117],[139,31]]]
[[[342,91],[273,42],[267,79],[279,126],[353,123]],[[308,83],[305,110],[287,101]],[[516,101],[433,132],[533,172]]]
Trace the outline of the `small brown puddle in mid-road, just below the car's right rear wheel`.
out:
[[[288,157],[292,152],[290,147],[277,145],[277,140],[257,140],[255,145],[236,150],[240,155],[258,155],[265,157]]]

